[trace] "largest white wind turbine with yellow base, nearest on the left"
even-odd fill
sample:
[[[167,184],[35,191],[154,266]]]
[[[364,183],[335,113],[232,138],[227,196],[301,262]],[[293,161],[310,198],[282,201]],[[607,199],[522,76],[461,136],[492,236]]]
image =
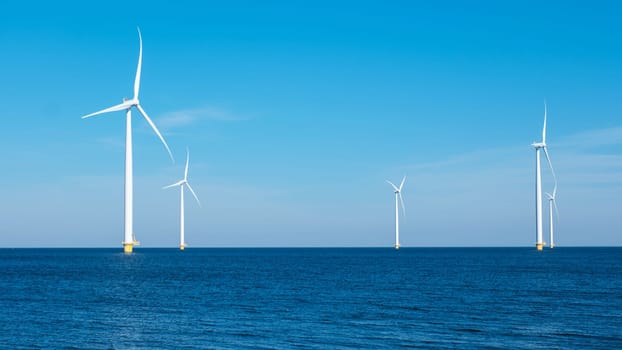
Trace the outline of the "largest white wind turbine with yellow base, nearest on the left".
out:
[[[123,251],[125,253],[131,253],[134,245],[138,245],[139,242],[134,237],[134,229],[133,229],[133,172],[132,172],[132,107],[135,107],[138,112],[145,118],[147,123],[151,126],[153,131],[158,135],[160,141],[164,144],[164,147],[168,151],[171,160],[174,162],[173,154],[171,153],[170,148],[164,141],[162,134],[155,126],[151,118],[147,115],[145,110],[141,107],[140,102],[138,100],[138,91],[140,89],[140,71],[142,65],[143,58],[143,39],[140,34],[140,28],[138,28],[138,40],[139,40],[139,51],[138,51],[138,67],[136,68],[136,77],[134,79],[134,97],[131,100],[123,98],[123,103],[102,109],[101,111],[97,111],[95,113],[87,114],[82,117],[82,119],[90,118],[99,114],[104,114],[108,112],[116,112],[125,110],[125,235],[123,240]]]

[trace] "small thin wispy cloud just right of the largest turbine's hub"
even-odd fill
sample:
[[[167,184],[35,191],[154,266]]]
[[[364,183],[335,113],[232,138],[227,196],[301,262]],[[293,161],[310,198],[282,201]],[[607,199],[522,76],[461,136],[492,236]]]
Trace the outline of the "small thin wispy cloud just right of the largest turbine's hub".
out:
[[[248,119],[246,116],[241,116],[224,108],[203,106],[164,113],[162,117],[158,118],[157,124],[164,129],[173,129],[205,120],[239,121],[246,119]]]

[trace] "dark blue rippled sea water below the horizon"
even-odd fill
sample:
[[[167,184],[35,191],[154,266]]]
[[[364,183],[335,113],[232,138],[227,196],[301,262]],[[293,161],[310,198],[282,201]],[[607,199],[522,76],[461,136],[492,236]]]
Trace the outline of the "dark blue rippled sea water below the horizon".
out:
[[[0,249],[0,348],[622,348],[622,248]]]

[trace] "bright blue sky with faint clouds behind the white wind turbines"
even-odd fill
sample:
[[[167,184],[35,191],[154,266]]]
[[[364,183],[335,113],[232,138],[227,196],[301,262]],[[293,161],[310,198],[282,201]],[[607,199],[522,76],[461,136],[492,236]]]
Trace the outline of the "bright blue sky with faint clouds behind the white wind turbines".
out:
[[[131,97],[137,26],[177,159],[134,113],[143,246],[178,244],[186,147],[190,247],[392,246],[403,175],[403,246],[532,246],[544,99],[556,243],[622,245],[621,6],[3,1],[0,247],[121,246],[124,113],[80,117]]]

